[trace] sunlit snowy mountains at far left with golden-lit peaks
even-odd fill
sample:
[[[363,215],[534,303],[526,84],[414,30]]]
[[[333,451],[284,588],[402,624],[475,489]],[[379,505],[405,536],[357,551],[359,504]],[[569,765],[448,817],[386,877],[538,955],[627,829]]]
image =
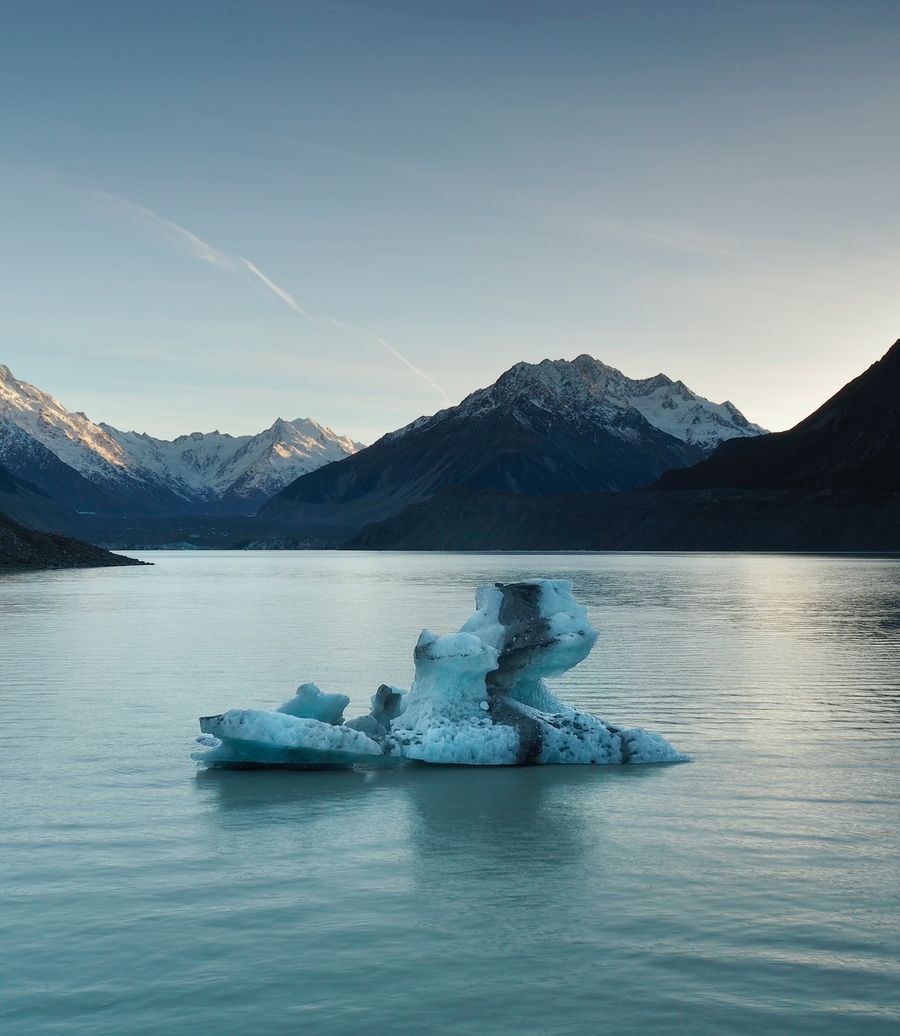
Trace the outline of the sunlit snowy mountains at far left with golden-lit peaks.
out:
[[[172,441],[123,432],[66,410],[0,365],[0,463],[78,510],[252,514],[298,476],[359,449],[311,419]]]

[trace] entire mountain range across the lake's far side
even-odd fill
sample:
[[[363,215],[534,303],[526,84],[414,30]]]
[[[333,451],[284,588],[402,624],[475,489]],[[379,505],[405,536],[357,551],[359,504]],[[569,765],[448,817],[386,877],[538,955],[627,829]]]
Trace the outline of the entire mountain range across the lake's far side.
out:
[[[167,441],[0,367],[0,512],[116,548],[897,550],[898,401],[900,342],[775,434],[582,355],[366,449],[312,421]]]

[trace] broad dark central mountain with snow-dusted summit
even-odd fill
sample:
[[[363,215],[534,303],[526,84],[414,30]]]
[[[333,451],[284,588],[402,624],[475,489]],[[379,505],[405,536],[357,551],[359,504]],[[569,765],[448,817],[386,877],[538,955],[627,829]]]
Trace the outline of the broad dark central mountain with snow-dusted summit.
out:
[[[261,513],[353,530],[446,487],[526,496],[634,489],[762,431],[731,403],[662,374],[635,380],[587,355],[522,363],[459,406],[303,476]]]

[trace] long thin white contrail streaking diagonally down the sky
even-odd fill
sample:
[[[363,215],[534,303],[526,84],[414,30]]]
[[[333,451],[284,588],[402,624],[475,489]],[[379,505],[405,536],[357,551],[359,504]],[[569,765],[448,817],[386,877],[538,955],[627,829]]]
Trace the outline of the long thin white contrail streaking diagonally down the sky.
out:
[[[434,388],[435,392],[443,398],[444,402],[447,404],[451,403],[451,399],[447,394],[430,374],[423,371],[420,368],[416,367],[415,364],[407,359],[402,352],[385,342],[380,335],[376,335],[374,332],[366,330],[364,328],[354,327],[351,324],[345,323],[342,320],[336,320],[333,317],[325,316],[324,314],[315,314],[310,312],[303,306],[300,306],[297,299],[294,298],[289,291],[272,281],[270,277],[267,277],[259,268],[259,266],[257,266],[256,263],[251,262],[250,259],[245,259],[243,256],[222,252],[208,241],[204,241],[202,237],[198,237],[197,234],[187,230],[185,227],[181,227],[177,223],[173,223],[171,220],[166,220],[164,217],[157,215],[155,212],[145,208],[143,205],[139,205],[137,202],[129,201],[127,198],[121,198],[118,195],[108,194],[105,191],[91,191],[90,194],[95,201],[98,201],[101,204],[107,213],[115,217],[123,217],[133,223],[136,222],[148,228],[156,236],[163,238],[169,244],[177,248],[179,251],[185,253],[194,259],[199,259],[201,262],[209,263],[210,266],[215,266],[217,269],[225,270],[229,274],[235,274],[238,276],[244,272],[251,274],[277,298],[280,298],[285,306],[289,307],[298,316],[309,320],[317,327],[322,327],[324,324],[330,324],[333,327],[350,332],[368,344],[375,343],[379,345],[385,352],[388,352],[395,357],[395,359],[398,359],[427,385]]]

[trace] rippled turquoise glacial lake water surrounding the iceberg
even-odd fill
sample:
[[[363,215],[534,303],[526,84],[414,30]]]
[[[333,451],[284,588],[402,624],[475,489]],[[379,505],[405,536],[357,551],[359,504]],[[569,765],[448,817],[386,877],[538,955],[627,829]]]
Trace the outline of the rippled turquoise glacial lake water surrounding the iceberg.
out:
[[[3,1032],[900,1031],[900,559],[142,556],[0,576]],[[601,630],[558,693],[693,762],[196,771],[533,576]]]

